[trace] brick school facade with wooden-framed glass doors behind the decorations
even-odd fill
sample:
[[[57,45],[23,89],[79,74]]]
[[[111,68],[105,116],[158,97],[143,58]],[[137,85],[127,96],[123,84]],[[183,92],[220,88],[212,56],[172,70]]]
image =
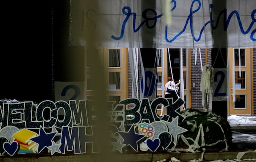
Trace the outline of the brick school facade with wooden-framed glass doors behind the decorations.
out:
[[[142,57],[140,57],[140,52],[142,51],[140,48],[107,47],[100,47],[96,50],[102,56],[102,63],[108,78],[105,84],[108,87],[109,100],[119,103],[126,98],[141,97],[140,64],[142,62],[140,60]],[[154,58],[150,58],[150,51],[155,53]],[[227,114],[256,115],[256,48],[227,48],[224,50],[225,54],[222,54],[223,51],[221,53],[218,50],[205,48],[152,48],[147,52],[147,59],[153,59],[156,63],[155,97],[164,97],[164,84],[167,82],[167,77],[173,75],[175,82],[183,79],[184,108],[196,108],[203,111],[200,90],[202,67],[219,64],[219,60],[216,62],[212,59],[214,53],[215,56],[222,57],[226,65],[227,95],[223,100],[227,101],[227,106],[224,106],[227,108]],[[84,54],[85,99],[90,99],[93,95],[90,88],[92,85],[90,58],[86,49]],[[180,71],[183,71],[183,75]],[[236,89],[235,98],[233,98],[234,88]],[[209,96],[207,100],[209,102]]]

